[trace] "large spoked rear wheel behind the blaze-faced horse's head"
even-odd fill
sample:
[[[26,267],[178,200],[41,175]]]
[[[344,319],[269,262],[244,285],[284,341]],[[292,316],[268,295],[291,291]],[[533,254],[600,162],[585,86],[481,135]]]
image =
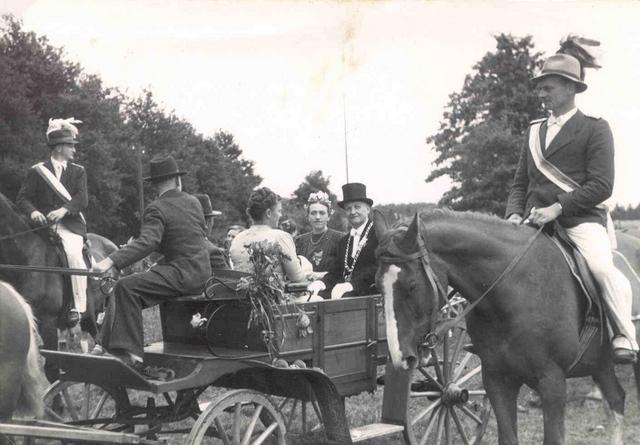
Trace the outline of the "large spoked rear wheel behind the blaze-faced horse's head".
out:
[[[410,445],[479,444],[491,405],[482,387],[480,360],[462,349],[469,337],[453,328],[414,372],[405,421]]]

